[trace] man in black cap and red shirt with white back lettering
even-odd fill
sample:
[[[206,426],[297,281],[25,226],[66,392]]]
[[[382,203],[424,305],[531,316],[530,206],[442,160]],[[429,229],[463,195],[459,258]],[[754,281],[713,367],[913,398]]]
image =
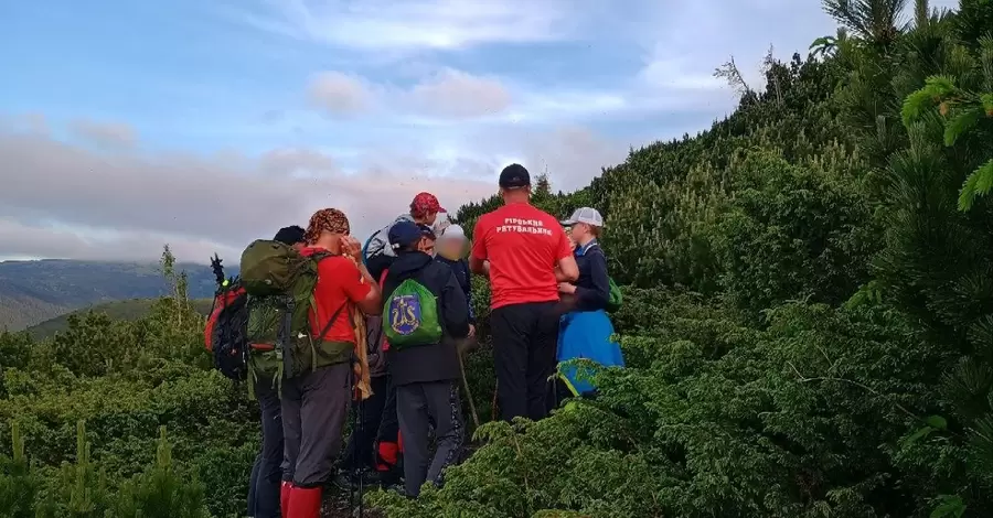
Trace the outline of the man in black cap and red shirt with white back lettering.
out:
[[[558,283],[579,269],[558,219],[531,205],[531,175],[520,164],[500,173],[503,206],[483,214],[473,231],[469,267],[490,279],[490,328],[501,418],[548,413],[555,373]]]

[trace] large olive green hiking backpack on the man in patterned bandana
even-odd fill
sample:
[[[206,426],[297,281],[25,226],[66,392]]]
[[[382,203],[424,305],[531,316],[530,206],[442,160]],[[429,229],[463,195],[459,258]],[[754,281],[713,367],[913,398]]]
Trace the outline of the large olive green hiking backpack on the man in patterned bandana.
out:
[[[253,380],[271,378],[278,387],[282,378],[316,366],[309,314],[316,309],[318,262],[328,257],[331,257],[328,252],[303,256],[291,246],[265,239],[252,242],[242,252],[239,274],[248,294]],[[341,310],[331,317],[324,332],[339,313]]]

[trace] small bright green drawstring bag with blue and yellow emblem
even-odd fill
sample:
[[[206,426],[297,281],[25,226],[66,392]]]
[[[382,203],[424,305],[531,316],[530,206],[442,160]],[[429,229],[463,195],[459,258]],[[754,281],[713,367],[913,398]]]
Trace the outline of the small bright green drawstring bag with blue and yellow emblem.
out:
[[[438,300],[424,284],[407,279],[383,304],[383,333],[391,349],[431,345],[441,341]]]

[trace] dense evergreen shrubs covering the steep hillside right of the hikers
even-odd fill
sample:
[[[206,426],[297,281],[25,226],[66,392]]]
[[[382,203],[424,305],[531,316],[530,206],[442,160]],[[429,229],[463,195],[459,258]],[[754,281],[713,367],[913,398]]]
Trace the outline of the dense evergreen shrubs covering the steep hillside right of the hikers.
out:
[[[425,517],[991,516],[993,2],[918,1],[906,25],[903,4],[826,1],[844,30],[769,63],[765,90],[743,88],[711,131],[577,193],[544,188],[560,215],[598,206],[611,274],[648,289],[617,316],[628,368],[598,375],[596,401],[488,424],[444,489],[376,501]]]

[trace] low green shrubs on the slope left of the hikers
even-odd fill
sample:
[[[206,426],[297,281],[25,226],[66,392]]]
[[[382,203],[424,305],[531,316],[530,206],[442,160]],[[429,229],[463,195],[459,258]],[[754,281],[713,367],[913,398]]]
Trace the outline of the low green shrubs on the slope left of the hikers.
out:
[[[3,516],[244,511],[257,410],[210,368],[180,280],[135,321],[90,312],[44,342],[0,335],[0,510],[15,509]]]

